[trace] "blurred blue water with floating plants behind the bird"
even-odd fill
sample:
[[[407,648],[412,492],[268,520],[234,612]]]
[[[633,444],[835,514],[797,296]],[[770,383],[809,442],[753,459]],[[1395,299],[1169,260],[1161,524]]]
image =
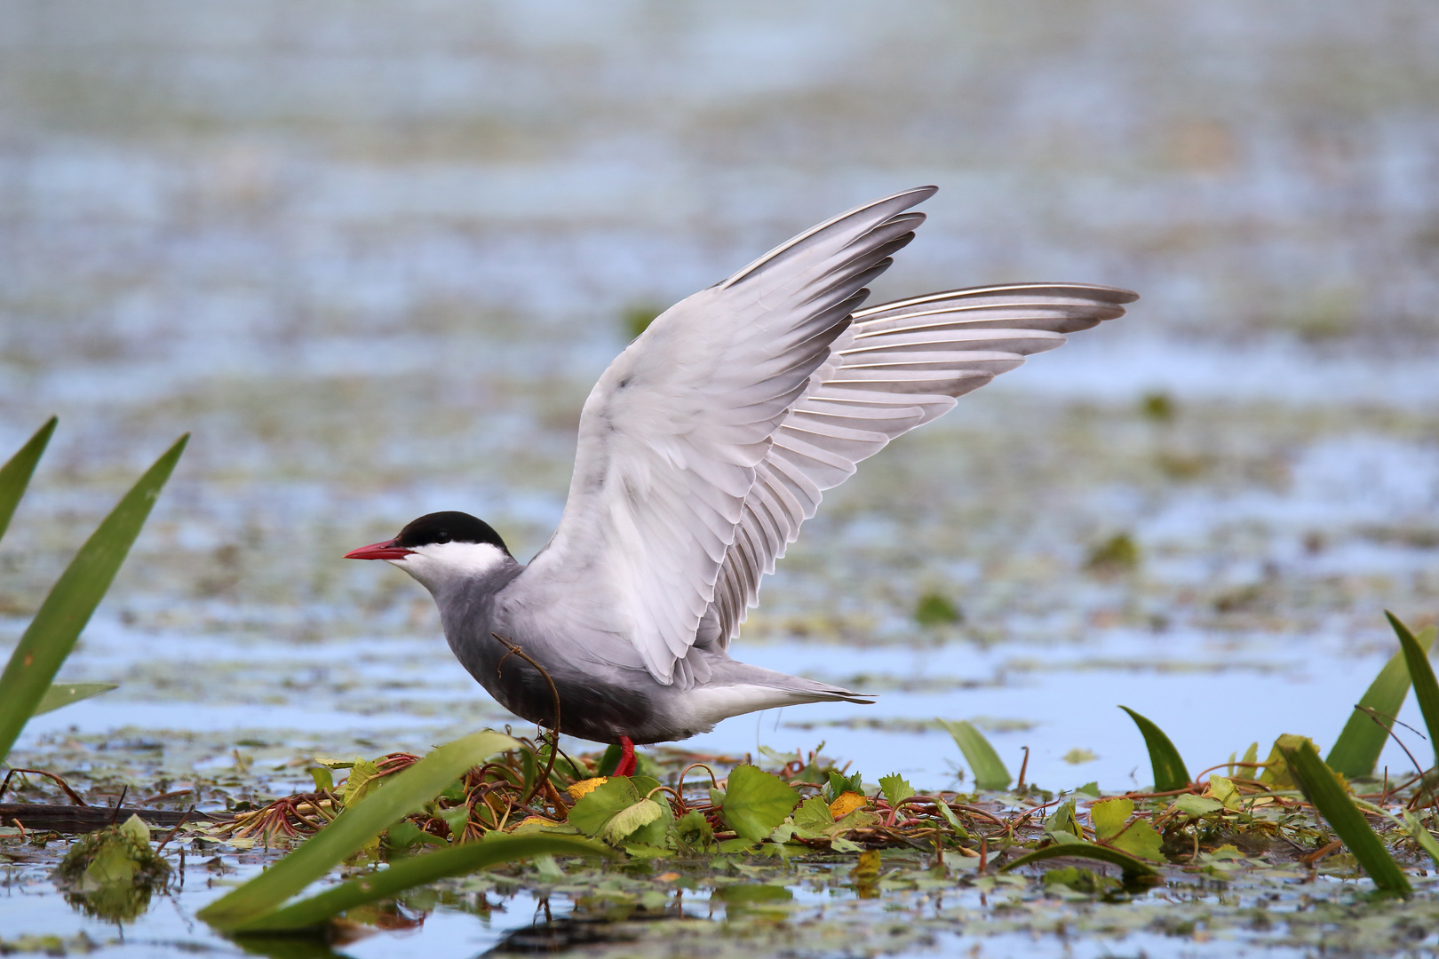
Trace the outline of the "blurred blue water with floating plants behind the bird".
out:
[[[1124,703],[1193,771],[1327,746],[1380,611],[1439,614],[1435,49],[1403,0],[0,0],[0,447],[60,416],[0,647],[194,431],[63,673],[121,689],[22,745],[505,722],[427,595],[341,554],[463,509],[527,558],[630,318],[935,183],[871,302],[1144,299],[866,463],[766,585],[735,654],[879,705],[692,745],[941,788],[931,720],[976,719],[1030,781],[1125,788]]]

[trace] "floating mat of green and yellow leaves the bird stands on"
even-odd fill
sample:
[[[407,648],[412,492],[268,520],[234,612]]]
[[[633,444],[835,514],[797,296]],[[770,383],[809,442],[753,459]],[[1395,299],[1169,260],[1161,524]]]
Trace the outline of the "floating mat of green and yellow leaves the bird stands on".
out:
[[[1406,650],[1420,648],[1404,637],[1400,633]],[[1417,673],[1419,663],[1410,670]],[[1392,699],[1393,690],[1386,694]],[[314,769],[317,791],[212,828],[217,837],[318,835],[201,917],[230,930],[312,927],[338,912],[482,864],[548,857],[538,858],[537,868],[561,876],[554,855],[593,855],[604,848],[637,861],[672,860],[684,868],[695,857],[728,855],[737,863],[869,857],[899,847],[925,850],[944,863],[957,855],[976,874],[1052,867],[1061,871],[1049,886],[1112,897],[1141,893],[1171,870],[1212,877],[1265,867],[1315,870],[1344,845],[1353,858],[1335,857],[1327,868],[1343,874],[1353,863],[1380,890],[1409,894],[1409,880],[1370,817],[1390,843],[1407,843],[1413,853],[1423,850],[1439,861],[1430,814],[1402,808],[1420,795],[1419,778],[1397,786],[1377,784],[1376,791],[1351,797],[1312,743],[1286,736],[1265,762],[1253,758],[1252,748],[1246,759],[1222,763],[1229,775],[1217,775],[1216,768],[1206,771],[1207,779],[1191,779],[1163,730],[1127,712],[1144,735],[1154,786],[1117,797],[1101,797],[1092,785],[1059,797],[1022,784],[1010,788],[1013,778],[983,733],[970,723],[948,722],[943,725],[974,774],[977,791],[968,795],[920,794],[898,774],[871,786],[858,772],[820,759],[819,751],[807,761],[800,753],[768,752],[778,772],[751,763],[732,765],[725,776],[701,763],[669,772],[652,761],[646,768],[655,775],[606,776],[596,775],[604,756],[563,756],[548,745],[498,733],[479,733],[468,746],[453,743],[423,761],[403,753],[374,762],[322,761]],[[482,752],[488,759],[479,762]],[[348,768],[342,786],[330,779],[331,768]],[[692,781],[696,768],[707,776]],[[1235,769],[1259,772],[1256,774],[1236,775]],[[350,827],[341,835],[345,822]],[[555,843],[541,847],[521,840]],[[360,850],[389,854],[391,866],[279,909],[299,887]],[[852,878],[856,889],[872,891],[878,860],[865,857]],[[1075,860],[1118,867],[1121,880],[1102,880],[1092,868],[1073,866]]]

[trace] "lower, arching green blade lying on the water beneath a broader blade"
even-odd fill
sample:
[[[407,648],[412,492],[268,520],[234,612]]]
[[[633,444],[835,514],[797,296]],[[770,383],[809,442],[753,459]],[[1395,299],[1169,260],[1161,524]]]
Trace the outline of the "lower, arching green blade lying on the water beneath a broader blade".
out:
[[[514,863],[534,855],[617,855],[617,853],[612,853],[599,843],[573,835],[496,835],[482,843],[463,843],[403,858],[386,870],[341,883],[318,896],[302,899],[294,906],[230,926],[226,932],[315,929],[347,909],[373,903],[377,899],[390,899],[407,889],[449,876],[465,876],[486,866]]]

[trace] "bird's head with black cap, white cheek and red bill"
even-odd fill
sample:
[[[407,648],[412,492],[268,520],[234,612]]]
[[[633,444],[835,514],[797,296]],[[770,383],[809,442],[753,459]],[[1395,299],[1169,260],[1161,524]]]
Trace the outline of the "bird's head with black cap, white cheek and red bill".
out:
[[[469,513],[420,516],[394,539],[345,554],[345,559],[384,559],[404,569],[430,592],[485,577],[512,564],[499,533]]]

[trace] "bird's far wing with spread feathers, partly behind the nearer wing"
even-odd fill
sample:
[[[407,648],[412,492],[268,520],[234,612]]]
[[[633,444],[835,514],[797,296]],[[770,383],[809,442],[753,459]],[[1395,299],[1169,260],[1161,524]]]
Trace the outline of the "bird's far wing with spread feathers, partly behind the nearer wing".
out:
[[[1111,286],[1025,283],[947,290],[853,315],[810,388],[774,433],[725,555],[709,615],[717,638],[740,634],[760,579],[814,515],[822,490],[889,440],[928,423],[1065,334],[1124,315],[1135,293]]]

